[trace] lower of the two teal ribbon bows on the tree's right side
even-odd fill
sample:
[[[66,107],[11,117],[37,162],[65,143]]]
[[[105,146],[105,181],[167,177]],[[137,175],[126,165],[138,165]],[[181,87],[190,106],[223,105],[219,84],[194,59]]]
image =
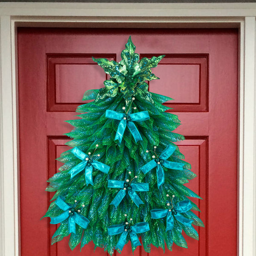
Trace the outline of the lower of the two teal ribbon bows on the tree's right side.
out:
[[[174,218],[180,223],[191,227],[193,220],[183,217],[180,212],[187,212],[192,208],[191,202],[189,200],[184,200],[178,202],[177,205],[172,209],[153,209],[151,210],[151,218],[164,218],[166,219],[166,231],[172,230],[174,227]]]

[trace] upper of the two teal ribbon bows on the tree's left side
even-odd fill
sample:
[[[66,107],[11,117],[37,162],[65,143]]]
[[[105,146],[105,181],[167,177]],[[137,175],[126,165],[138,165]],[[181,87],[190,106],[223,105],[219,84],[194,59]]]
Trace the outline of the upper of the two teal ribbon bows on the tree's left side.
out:
[[[110,166],[105,165],[104,163],[100,163],[96,160],[93,160],[92,157],[90,158],[87,154],[82,152],[79,148],[75,147],[71,149],[71,152],[79,159],[82,160],[77,166],[73,167],[68,173],[70,173],[71,177],[73,178],[79,172],[85,169],[85,181],[86,185],[91,184],[93,185],[93,167],[95,169],[100,170],[108,174]]]

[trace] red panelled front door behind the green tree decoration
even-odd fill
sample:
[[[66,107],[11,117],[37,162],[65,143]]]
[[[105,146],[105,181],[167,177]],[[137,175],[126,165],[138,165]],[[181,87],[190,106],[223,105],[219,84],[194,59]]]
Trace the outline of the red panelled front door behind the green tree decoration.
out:
[[[68,238],[51,245],[56,227],[47,211],[52,195],[46,180],[58,172],[55,161],[69,139],[75,110],[88,89],[103,87],[103,70],[91,57],[119,61],[131,35],[143,57],[165,54],[149,90],[175,99],[167,105],[182,125],[175,130],[186,140],[180,151],[195,177],[187,185],[205,228],[196,227],[199,241],[184,234],[188,249],[173,246],[166,256],[235,256],[237,245],[237,88],[236,29],[18,29],[20,241],[21,256],[77,255]],[[93,253],[88,244],[81,255]],[[126,245],[122,255],[131,255]],[[95,255],[106,255],[101,248]],[[138,247],[134,255],[146,256]],[[151,255],[163,255],[152,246]],[[107,256],[107,255],[106,255]]]

